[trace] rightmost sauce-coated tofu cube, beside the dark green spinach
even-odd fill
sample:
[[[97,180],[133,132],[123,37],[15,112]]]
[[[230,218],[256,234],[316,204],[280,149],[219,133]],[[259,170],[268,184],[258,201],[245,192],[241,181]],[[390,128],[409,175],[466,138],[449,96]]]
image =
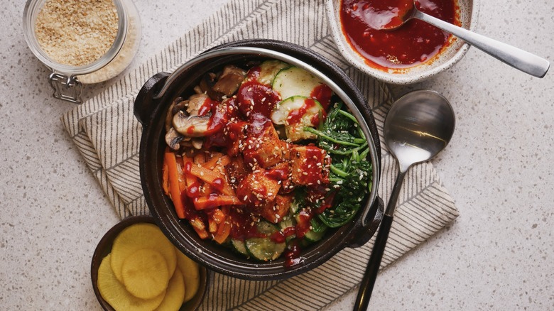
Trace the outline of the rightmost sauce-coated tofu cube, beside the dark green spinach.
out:
[[[329,183],[327,152],[316,146],[293,146],[290,149],[290,178],[295,185]]]

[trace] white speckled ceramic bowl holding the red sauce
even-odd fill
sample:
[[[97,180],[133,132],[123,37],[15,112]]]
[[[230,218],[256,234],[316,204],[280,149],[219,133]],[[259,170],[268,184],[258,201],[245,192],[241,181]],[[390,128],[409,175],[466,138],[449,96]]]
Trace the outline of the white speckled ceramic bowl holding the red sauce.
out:
[[[365,59],[362,58],[357,51],[347,42],[342,32],[342,25],[340,22],[340,4],[342,0],[325,0],[325,9],[327,10],[327,18],[329,19],[329,26],[337,48],[340,53],[350,62],[354,67],[357,67],[367,75],[371,75],[378,80],[393,84],[409,84],[425,80],[428,77],[437,75],[439,72],[447,70],[452,67],[456,62],[461,60],[467,52],[469,45],[459,38],[452,36],[452,43],[447,48],[441,50],[433,59],[423,64],[416,65],[414,67],[408,67],[401,71],[399,70],[379,70],[374,67],[370,67],[366,64]],[[460,6],[460,21],[462,27],[474,30],[477,26],[477,16],[479,14],[479,0],[458,0]]]

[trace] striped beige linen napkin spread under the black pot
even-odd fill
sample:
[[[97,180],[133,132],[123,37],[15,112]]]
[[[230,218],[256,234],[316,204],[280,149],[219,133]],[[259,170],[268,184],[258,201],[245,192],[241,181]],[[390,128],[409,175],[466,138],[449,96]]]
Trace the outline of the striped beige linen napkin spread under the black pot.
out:
[[[211,18],[170,43],[102,94],[62,117],[87,165],[121,219],[148,214],[139,175],[141,124],[133,115],[136,94],[149,77],[172,72],[203,50],[246,38],[271,38],[303,45],[335,62],[362,89],[382,125],[393,98],[386,84],[355,70],[335,48],[320,0],[233,0]],[[381,144],[379,195],[389,198],[396,162]],[[389,265],[458,216],[452,198],[430,163],[413,166],[403,184],[381,268]],[[344,249],[322,266],[287,280],[249,281],[213,273],[200,310],[320,310],[362,279],[374,239]],[[325,284],[325,286],[322,286]]]

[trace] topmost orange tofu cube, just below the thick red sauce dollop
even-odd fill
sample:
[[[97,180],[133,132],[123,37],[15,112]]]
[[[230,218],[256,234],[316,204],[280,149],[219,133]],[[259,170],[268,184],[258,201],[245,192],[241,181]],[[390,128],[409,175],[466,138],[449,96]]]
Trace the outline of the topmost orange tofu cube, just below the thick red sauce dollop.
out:
[[[275,128],[269,124],[259,133],[250,133],[246,138],[244,162],[251,168],[269,168],[283,161],[288,153],[288,144],[279,139]]]

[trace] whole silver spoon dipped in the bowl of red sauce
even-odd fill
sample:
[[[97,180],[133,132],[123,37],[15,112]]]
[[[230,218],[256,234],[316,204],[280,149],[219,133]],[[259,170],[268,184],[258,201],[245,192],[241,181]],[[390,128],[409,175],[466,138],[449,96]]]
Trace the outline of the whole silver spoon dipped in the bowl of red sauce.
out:
[[[389,21],[384,21],[384,23],[381,23],[376,29],[393,30],[401,27],[406,21],[417,18],[443,31],[452,33],[452,35],[465,40],[469,45],[473,45],[484,53],[505,62],[511,67],[526,72],[533,77],[544,77],[546,72],[548,72],[550,62],[544,58],[423,13],[418,10],[418,4],[415,0],[400,2],[402,2],[401,6],[398,6],[398,10],[394,11],[396,16],[391,17]]]

